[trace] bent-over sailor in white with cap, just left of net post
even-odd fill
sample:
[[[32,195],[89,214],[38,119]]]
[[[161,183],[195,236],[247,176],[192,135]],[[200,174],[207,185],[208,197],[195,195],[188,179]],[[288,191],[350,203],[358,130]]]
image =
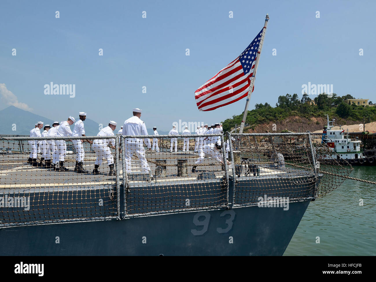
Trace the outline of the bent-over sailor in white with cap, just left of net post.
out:
[[[98,132],[97,136],[110,136],[114,137],[114,130],[116,128],[117,122],[109,121],[108,126],[103,128]],[[114,170],[114,157],[112,157],[111,149],[115,149],[115,138],[109,139],[95,139],[92,145],[94,152],[97,155],[97,159],[94,162],[93,174],[99,174],[99,166],[103,162],[103,157],[106,158],[107,164],[110,168],[108,176],[116,175]]]

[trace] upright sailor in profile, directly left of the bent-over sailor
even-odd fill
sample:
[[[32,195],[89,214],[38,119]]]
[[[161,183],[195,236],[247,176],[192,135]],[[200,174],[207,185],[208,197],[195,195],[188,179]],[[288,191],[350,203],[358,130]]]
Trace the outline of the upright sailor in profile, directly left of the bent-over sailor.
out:
[[[74,124],[72,134],[74,137],[85,136],[85,128],[83,126],[83,121],[86,119],[85,112],[79,112],[80,119]],[[91,140],[85,140],[85,142],[92,143]],[[81,139],[72,139],[74,148],[76,149],[76,165],[74,166],[74,171],[77,173],[88,173],[86,169],[83,168],[83,158],[85,157],[85,151],[83,150]]]

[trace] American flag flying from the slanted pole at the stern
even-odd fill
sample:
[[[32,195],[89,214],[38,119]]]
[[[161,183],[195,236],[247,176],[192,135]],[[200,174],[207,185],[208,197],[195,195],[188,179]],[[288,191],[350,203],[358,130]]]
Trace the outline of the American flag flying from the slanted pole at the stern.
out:
[[[239,57],[194,92],[200,111],[215,110],[247,96],[261,34],[262,30]]]

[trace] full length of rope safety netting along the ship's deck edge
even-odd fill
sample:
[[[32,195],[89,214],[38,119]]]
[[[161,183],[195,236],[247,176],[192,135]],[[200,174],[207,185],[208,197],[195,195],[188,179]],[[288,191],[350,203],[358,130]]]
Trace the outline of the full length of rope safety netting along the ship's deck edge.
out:
[[[306,201],[352,170],[313,161],[331,151],[308,134],[9,136],[0,149],[0,228]]]

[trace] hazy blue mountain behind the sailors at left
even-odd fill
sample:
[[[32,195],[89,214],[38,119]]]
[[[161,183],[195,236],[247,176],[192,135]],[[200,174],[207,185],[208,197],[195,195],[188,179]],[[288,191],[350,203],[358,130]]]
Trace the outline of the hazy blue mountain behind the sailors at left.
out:
[[[78,115],[75,118],[77,119]],[[38,121],[42,121],[44,122],[44,124],[50,124],[51,126],[54,122],[52,119],[46,118],[44,116],[36,115],[25,110],[18,109],[14,106],[9,106],[8,108],[0,111],[0,134],[17,134],[29,136],[30,130],[34,128],[34,124]],[[92,119],[86,119],[84,121],[84,124],[86,136],[96,136],[100,130],[99,123],[93,121]],[[103,127],[106,126],[107,124],[103,124]],[[73,127],[74,125],[71,125],[71,130],[73,130]],[[41,132],[42,131],[43,128]],[[117,130],[115,131],[116,134]]]

